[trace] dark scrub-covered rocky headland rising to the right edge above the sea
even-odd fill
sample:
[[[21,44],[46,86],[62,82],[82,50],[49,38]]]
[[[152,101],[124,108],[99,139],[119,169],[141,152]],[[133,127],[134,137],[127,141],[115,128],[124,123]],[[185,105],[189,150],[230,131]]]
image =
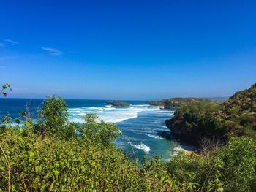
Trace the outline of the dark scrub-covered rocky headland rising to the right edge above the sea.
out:
[[[222,103],[181,104],[165,123],[173,134],[194,145],[200,145],[203,138],[219,142],[230,136],[256,139],[256,84]]]

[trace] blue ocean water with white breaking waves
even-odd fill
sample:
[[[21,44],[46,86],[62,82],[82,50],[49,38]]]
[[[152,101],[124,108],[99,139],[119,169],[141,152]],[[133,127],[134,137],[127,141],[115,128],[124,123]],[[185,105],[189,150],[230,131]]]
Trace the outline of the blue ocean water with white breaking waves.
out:
[[[165,120],[173,115],[173,110],[162,110],[145,104],[145,101],[127,101],[129,107],[112,107],[106,100],[67,99],[69,120],[83,123],[82,117],[94,113],[99,119],[117,123],[121,135],[116,138],[116,146],[130,158],[142,158],[146,154],[169,159],[182,145],[172,139],[165,126]],[[0,99],[0,118],[7,112],[15,118],[20,110],[29,110],[31,118],[37,118],[42,107],[42,99]],[[170,136],[169,139],[162,135]]]

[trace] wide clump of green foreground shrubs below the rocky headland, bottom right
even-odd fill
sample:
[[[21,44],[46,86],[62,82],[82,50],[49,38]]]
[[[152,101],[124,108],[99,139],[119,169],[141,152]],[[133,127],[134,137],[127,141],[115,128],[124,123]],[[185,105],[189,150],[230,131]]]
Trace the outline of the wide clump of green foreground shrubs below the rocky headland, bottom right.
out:
[[[232,138],[208,156],[180,153],[167,169],[192,191],[255,191],[256,143],[246,137]]]

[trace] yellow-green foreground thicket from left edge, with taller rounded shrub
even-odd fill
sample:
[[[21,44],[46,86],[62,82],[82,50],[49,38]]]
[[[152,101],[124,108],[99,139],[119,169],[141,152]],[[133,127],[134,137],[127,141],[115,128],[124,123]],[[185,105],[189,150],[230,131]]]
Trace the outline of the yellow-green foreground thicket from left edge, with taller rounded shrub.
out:
[[[117,150],[116,124],[67,122],[67,105],[49,97],[34,125],[7,126],[0,134],[0,191],[179,191],[157,159],[131,161]],[[71,131],[70,131],[71,130]]]

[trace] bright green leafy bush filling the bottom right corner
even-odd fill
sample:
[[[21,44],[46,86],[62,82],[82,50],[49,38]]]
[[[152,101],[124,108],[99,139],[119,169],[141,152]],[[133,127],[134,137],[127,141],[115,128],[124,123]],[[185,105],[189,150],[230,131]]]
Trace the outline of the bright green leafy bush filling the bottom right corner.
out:
[[[225,191],[254,191],[256,179],[256,143],[252,139],[231,138],[217,152],[225,164],[220,168]]]

